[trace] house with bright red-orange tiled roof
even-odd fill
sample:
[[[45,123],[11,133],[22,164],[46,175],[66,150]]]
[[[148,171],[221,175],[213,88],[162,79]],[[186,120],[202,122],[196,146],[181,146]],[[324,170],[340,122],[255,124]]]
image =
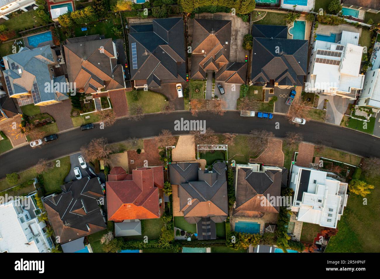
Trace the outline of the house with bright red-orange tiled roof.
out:
[[[140,167],[128,174],[114,167],[106,182],[108,220],[160,218],[160,197],[163,197],[163,168]]]

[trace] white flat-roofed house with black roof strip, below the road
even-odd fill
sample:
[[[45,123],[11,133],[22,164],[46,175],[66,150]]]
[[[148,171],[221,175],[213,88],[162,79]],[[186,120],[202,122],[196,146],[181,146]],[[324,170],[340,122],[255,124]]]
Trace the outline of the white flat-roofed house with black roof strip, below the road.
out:
[[[291,211],[296,220],[336,228],[347,205],[347,183],[320,170],[293,165],[289,187],[294,190]]]

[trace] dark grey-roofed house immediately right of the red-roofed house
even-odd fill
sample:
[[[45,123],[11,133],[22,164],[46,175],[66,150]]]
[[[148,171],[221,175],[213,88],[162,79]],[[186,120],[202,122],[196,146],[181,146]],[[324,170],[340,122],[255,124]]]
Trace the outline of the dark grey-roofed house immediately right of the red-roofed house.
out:
[[[171,184],[178,185],[179,210],[189,224],[196,224],[198,240],[216,239],[215,224],[228,216],[226,164],[198,170],[198,163],[177,163],[169,170]]]

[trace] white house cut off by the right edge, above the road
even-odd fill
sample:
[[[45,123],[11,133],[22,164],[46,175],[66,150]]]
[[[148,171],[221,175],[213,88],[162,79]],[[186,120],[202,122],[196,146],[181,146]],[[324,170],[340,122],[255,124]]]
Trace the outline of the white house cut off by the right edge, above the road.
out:
[[[356,105],[380,109],[380,69],[366,72],[363,90]]]

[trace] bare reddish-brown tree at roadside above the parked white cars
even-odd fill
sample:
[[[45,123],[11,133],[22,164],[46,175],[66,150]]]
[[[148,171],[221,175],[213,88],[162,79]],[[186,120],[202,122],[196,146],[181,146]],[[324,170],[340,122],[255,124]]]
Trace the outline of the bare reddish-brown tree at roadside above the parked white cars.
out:
[[[109,155],[112,150],[107,147],[108,141],[104,137],[100,139],[93,139],[86,146],[81,147],[81,153],[86,161],[94,162],[96,160],[104,160],[105,163],[109,162]]]

